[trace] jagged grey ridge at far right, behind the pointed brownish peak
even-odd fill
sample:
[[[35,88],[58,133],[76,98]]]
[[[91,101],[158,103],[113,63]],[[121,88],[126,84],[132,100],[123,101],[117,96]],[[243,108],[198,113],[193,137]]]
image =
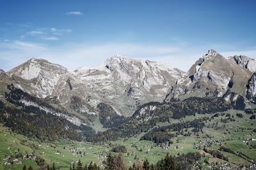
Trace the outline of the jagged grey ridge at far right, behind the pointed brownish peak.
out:
[[[250,57],[246,57],[244,55],[234,55],[233,57],[228,57],[228,59],[236,62],[241,67],[244,67],[252,72],[256,71],[256,61],[255,59],[251,59]]]

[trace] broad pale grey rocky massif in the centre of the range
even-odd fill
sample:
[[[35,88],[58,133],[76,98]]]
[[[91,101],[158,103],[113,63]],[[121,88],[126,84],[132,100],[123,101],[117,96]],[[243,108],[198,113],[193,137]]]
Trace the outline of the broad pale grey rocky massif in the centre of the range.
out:
[[[159,62],[116,55],[99,67],[81,67],[74,74],[93,94],[131,115],[139,104],[163,101],[168,88],[184,73]]]

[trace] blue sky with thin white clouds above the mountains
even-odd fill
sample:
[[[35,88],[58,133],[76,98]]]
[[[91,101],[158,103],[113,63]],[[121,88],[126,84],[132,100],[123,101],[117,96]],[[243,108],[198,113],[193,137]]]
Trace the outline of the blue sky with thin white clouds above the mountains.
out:
[[[70,71],[116,54],[188,71],[209,49],[256,59],[256,1],[1,0],[0,68],[31,58]]]

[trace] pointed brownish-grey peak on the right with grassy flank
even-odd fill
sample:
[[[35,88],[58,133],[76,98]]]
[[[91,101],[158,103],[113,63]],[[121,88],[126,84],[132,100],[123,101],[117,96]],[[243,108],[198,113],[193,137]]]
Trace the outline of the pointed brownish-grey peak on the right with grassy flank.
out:
[[[252,74],[236,62],[209,50],[170,88],[166,101],[191,96],[217,96],[235,101],[239,95],[246,96],[246,85]]]

